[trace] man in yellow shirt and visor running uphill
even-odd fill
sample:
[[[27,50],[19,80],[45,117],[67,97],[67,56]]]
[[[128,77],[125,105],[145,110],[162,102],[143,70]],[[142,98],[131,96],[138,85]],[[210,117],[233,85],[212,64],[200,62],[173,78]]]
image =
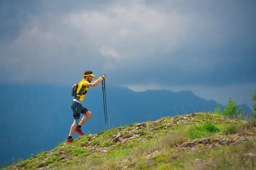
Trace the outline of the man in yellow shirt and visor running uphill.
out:
[[[84,79],[78,83],[78,87],[76,89],[76,96],[71,102],[71,109],[73,111],[74,122],[71,125],[69,136],[67,137],[67,143],[73,143],[73,133],[76,131],[80,135],[84,135],[81,130],[81,126],[92,116],[92,113],[82,106],[82,101],[84,100],[84,96],[87,93],[90,86],[96,86],[99,82],[103,81],[106,78],[104,74],[102,77],[99,77],[97,80],[93,81],[93,72],[90,70],[84,71]],[[80,113],[84,114],[84,117],[80,121]]]

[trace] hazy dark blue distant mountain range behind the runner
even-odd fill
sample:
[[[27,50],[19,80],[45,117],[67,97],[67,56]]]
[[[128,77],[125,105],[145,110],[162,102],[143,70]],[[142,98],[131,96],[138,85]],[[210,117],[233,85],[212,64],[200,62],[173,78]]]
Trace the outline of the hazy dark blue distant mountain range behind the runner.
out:
[[[72,87],[72,85],[71,85]],[[63,142],[73,123],[71,87],[53,85],[0,85],[0,163],[26,159]],[[156,120],[177,114],[214,111],[216,102],[191,91],[134,92],[106,85],[108,122],[104,122],[101,85],[90,87],[83,106],[92,117],[82,126],[84,133],[98,133],[120,125]],[[240,108],[241,106],[238,106]],[[221,106],[224,109],[224,106]],[[243,111],[251,112],[246,105]],[[81,115],[82,116],[82,115]],[[74,133],[74,138],[78,136]]]

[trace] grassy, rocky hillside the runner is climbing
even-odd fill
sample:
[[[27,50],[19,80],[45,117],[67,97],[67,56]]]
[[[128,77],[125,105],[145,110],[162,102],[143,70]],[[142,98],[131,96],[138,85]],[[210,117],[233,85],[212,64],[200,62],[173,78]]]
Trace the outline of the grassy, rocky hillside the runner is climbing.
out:
[[[79,136],[4,170],[255,170],[256,120],[163,117]]]

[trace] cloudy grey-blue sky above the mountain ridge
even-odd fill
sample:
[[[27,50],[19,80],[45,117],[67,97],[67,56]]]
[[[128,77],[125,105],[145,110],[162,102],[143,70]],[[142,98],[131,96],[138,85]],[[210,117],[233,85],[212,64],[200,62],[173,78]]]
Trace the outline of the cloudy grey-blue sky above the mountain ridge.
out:
[[[255,0],[0,0],[0,83],[190,90],[250,108]]]

